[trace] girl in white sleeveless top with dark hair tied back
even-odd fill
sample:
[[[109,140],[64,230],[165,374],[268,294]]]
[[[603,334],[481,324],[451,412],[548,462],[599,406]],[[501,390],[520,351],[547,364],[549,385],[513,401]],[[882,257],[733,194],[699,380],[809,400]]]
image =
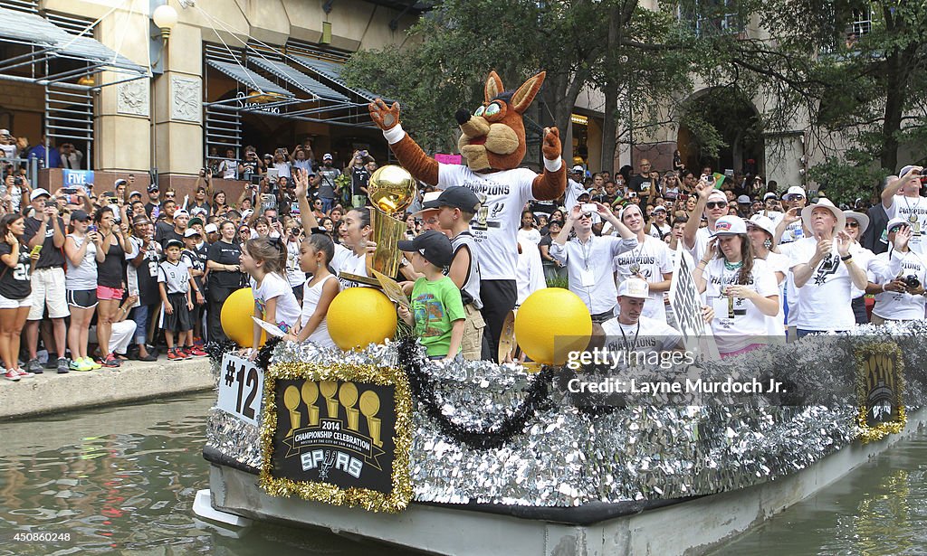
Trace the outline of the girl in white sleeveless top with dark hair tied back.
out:
[[[302,290],[299,332],[290,332],[284,337],[285,340],[309,340],[325,348],[335,347],[325,322],[328,306],[341,290],[338,280],[328,268],[333,256],[335,243],[323,234],[312,234],[299,246],[299,268],[311,273],[312,278],[306,280]]]

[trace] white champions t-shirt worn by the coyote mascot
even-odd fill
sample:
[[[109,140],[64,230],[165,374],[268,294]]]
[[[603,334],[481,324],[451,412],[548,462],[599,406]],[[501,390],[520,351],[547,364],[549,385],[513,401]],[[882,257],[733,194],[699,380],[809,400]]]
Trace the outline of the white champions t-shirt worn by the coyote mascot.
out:
[[[463,186],[475,192],[482,204],[470,222],[482,279],[515,279],[521,211],[528,201],[536,200],[532,187],[537,176],[527,168],[479,174],[465,166],[438,164],[438,189]]]

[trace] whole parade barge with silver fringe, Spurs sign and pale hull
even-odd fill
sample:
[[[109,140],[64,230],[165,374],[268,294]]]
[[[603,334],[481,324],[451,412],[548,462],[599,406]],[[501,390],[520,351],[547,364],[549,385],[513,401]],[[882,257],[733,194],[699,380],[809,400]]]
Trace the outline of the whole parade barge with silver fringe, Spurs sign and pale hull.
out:
[[[440,554],[701,553],[917,431],[925,334],[858,327],[687,370],[774,395],[608,403],[571,397],[564,366],[431,364],[413,340],[217,356],[210,507]],[[222,403],[248,369],[249,419]]]

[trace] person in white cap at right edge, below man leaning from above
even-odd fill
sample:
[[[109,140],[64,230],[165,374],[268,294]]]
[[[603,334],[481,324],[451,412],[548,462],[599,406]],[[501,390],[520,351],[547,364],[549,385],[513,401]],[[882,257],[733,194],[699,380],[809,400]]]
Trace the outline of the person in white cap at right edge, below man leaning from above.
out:
[[[891,248],[876,258],[883,264],[881,276],[873,276],[876,284],[875,306],[872,307],[872,324],[921,320],[927,299],[927,265],[918,253],[909,248],[914,231],[904,218],[895,217],[888,223],[888,241]]]

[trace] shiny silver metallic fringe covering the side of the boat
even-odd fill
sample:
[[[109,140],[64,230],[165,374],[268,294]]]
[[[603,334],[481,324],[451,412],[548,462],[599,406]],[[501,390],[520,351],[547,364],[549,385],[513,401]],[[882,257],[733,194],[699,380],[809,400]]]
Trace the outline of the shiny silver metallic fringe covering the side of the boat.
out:
[[[905,403],[923,405],[925,337],[927,324],[921,323],[857,327],[848,335],[807,337],[689,369],[706,380],[775,378],[804,392],[800,402],[713,395],[698,403],[589,408],[551,389],[524,429],[492,449],[471,448],[442,433],[416,400],[410,468],[415,500],[578,506],[711,494],[786,476],[857,439],[857,406],[842,398],[852,388],[845,381],[855,368],[855,342],[896,343],[907,369]],[[286,361],[409,363],[394,343],[350,353],[281,344],[271,363]],[[420,363],[441,418],[468,431],[493,430],[517,414],[538,377],[512,364]],[[660,369],[635,372],[641,379],[666,377]],[[208,439],[235,460],[260,467],[254,427],[214,411]]]

